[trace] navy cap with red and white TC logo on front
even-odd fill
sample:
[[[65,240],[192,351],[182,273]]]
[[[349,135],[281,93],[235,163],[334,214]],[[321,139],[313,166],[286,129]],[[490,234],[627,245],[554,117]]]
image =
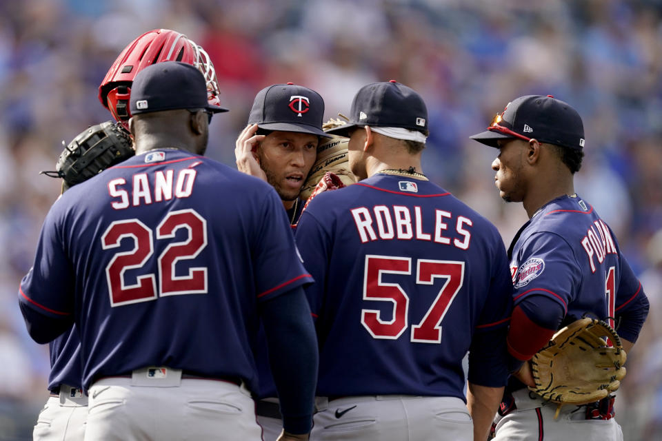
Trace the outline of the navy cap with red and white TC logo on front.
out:
[[[314,90],[293,83],[274,84],[257,92],[249,124],[265,130],[310,133],[330,138],[322,130],[324,100]]]

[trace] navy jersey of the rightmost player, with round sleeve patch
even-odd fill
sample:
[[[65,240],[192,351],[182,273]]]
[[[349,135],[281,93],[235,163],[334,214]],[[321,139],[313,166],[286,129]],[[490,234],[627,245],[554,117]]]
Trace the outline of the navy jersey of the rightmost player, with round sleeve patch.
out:
[[[612,230],[579,196],[545,204],[518,236],[510,262],[515,305],[545,296],[563,308],[562,325],[588,313],[612,326],[648,305]],[[619,335],[634,342],[641,325],[624,322]]]

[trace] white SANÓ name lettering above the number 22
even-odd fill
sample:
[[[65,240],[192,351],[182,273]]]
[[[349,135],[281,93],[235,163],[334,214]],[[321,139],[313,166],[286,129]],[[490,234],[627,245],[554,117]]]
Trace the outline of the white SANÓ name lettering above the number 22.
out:
[[[108,182],[108,193],[113,201],[114,209],[125,209],[130,205],[150,205],[153,202],[170,201],[175,198],[188,198],[193,191],[197,172],[192,168],[179,170],[174,176],[174,170],[158,170],[148,179],[147,173],[133,175],[130,184],[125,178],[115,178]],[[127,188],[130,185],[130,188]]]

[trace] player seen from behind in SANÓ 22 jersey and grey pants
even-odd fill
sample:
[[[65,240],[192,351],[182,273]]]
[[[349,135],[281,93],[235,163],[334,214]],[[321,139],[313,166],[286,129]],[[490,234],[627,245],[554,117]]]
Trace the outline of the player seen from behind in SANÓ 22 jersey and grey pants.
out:
[[[33,333],[79,331],[86,438],[262,440],[252,400],[262,324],[277,354],[281,439],[307,439],[312,278],[281,199],[202,156],[208,112],[223,109],[192,65],[141,70],[130,106],[136,155],[54,203],[21,283]]]

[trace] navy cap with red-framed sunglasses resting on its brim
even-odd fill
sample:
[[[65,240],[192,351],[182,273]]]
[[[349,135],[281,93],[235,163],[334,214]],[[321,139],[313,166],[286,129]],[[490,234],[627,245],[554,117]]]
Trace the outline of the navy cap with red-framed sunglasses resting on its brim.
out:
[[[552,95],[525,95],[514,99],[494,116],[488,130],[471,139],[499,148],[499,139],[536,139],[572,149],[584,147],[584,125],[570,104]]]

